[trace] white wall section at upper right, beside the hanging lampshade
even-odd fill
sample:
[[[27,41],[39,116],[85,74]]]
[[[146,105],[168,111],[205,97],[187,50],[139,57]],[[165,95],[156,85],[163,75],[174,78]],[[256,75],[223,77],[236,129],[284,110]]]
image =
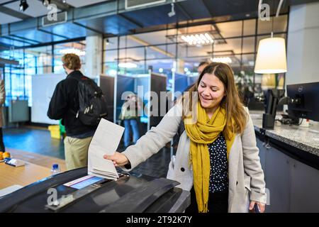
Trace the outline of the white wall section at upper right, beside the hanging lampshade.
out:
[[[286,84],[319,82],[319,2],[291,6]]]

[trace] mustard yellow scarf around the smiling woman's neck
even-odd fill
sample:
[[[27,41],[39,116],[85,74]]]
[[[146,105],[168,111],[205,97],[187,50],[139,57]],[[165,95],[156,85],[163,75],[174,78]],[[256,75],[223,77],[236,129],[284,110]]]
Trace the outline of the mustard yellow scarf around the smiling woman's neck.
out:
[[[208,118],[205,109],[198,101],[198,118],[194,124],[186,124],[185,130],[191,140],[190,158],[193,165],[194,189],[198,211],[208,212],[208,189],[211,174],[211,162],[208,152],[208,144],[213,143],[220,132],[223,132],[226,124],[226,111],[218,107],[215,113]],[[191,116],[189,116],[191,118]],[[185,120],[184,120],[185,121]],[[233,145],[235,136],[230,134],[231,140],[226,139],[227,158]]]

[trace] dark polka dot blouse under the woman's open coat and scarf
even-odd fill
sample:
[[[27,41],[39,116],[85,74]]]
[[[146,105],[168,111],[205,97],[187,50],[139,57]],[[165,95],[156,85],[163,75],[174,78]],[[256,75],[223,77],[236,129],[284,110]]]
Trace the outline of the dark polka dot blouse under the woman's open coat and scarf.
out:
[[[226,140],[223,133],[208,145],[211,157],[211,179],[209,192],[223,192],[228,190],[228,160]]]

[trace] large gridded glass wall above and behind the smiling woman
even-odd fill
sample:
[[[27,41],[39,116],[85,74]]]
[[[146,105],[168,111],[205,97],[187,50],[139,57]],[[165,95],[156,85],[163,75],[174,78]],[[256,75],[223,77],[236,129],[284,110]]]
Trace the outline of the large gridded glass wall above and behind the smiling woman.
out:
[[[256,18],[106,38],[103,73],[135,74],[152,70],[196,76],[199,62],[227,62],[233,68],[238,88],[252,100],[264,89],[284,86],[284,74],[254,74],[254,60],[259,40],[269,38],[272,32],[274,37],[286,39],[287,28],[288,16],[281,15],[270,21]],[[201,43],[189,42],[191,38],[203,36],[206,38]],[[213,42],[209,42],[210,38]]]

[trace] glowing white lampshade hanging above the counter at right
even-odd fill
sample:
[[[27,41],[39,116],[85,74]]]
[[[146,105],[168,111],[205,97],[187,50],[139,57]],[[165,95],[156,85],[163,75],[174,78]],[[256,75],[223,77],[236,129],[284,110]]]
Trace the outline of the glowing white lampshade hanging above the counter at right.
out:
[[[259,41],[254,72],[287,72],[286,45],[284,38],[265,38]]]

